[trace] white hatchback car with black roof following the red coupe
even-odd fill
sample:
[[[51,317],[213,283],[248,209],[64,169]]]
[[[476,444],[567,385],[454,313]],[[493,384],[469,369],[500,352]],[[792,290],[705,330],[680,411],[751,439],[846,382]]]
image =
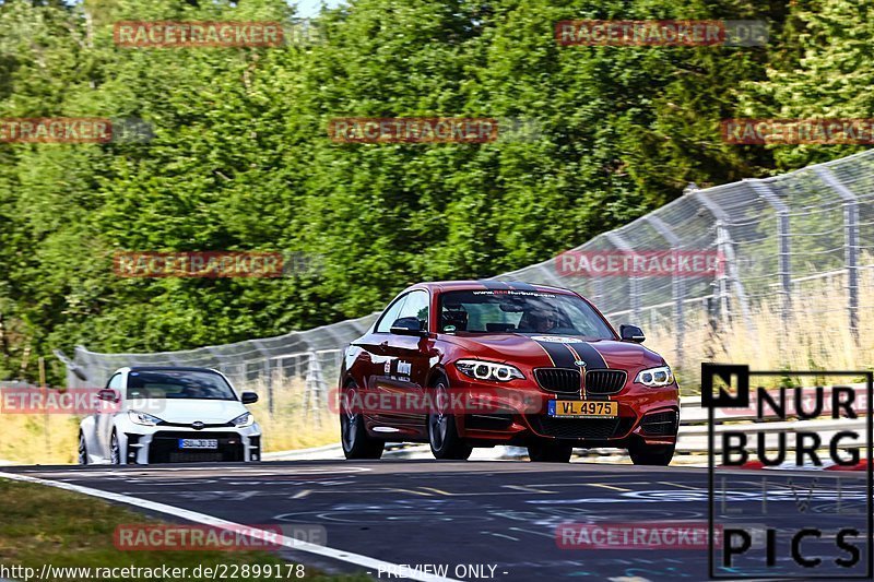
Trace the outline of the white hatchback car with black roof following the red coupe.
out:
[[[79,464],[258,461],[261,427],[224,375],[208,368],[134,367],[116,371],[104,405],[79,428]]]

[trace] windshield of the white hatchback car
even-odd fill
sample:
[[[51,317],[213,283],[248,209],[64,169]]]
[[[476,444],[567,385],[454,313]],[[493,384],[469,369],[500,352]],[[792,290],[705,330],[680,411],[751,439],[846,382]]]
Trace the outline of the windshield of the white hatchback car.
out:
[[[220,375],[194,370],[132,371],[128,399],[237,400]]]

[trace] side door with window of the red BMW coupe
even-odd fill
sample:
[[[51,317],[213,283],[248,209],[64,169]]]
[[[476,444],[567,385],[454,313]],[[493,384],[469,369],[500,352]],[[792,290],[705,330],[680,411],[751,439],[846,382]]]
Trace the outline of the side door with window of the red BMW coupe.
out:
[[[415,318],[420,329],[427,331],[430,319],[430,296],[427,290],[414,289],[406,295],[406,300],[398,310],[398,319]],[[386,330],[391,329],[391,323]],[[399,335],[390,331],[385,333],[383,353],[388,358],[386,376],[380,383],[380,391],[388,392],[388,402],[400,403],[399,409],[382,415],[382,420],[399,428],[424,428],[427,415],[422,412],[424,388],[429,369],[427,337],[416,335]],[[418,403],[418,405],[416,404]],[[412,409],[408,407],[412,404]]]

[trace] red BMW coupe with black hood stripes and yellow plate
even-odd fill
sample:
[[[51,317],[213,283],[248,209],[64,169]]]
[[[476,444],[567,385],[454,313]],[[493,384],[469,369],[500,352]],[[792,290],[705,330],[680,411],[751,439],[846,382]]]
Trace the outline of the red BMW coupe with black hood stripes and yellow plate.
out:
[[[567,462],[576,448],[671,462],[678,389],[643,333],[617,334],[580,295],[527,283],[421,283],[346,348],[339,413],[346,459],[385,443],[428,442],[437,459],[474,447],[527,447]]]

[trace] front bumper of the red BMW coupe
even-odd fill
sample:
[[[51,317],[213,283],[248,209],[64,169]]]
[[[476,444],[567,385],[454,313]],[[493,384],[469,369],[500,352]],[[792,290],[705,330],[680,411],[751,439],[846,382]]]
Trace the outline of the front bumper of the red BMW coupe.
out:
[[[452,373],[450,385],[452,390],[463,391],[466,399],[491,403],[484,406],[487,412],[457,416],[460,436],[477,444],[524,446],[534,438],[570,441],[579,447],[626,448],[633,440],[653,446],[676,442],[680,426],[676,383],[653,389],[627,381],[616,394],[592,396],[616,402],[615,418],[551,417],[546,414],[548,401],[579,400],[580,396],[557,396],[533,380],[508,382],[496,391],[495,382],[479,382]]]

